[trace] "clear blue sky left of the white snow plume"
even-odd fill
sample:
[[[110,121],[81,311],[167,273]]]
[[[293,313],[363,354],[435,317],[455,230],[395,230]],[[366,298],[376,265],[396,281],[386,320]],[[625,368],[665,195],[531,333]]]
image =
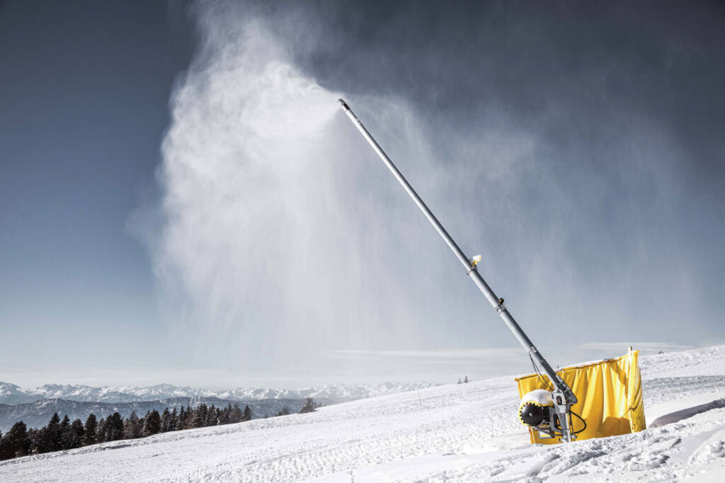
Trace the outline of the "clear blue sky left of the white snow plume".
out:
[[[154,278],[127,220],[155,189],[170,88],[191,57],[186,16],[4,2],[0,24],[4,366],[153,357]]]

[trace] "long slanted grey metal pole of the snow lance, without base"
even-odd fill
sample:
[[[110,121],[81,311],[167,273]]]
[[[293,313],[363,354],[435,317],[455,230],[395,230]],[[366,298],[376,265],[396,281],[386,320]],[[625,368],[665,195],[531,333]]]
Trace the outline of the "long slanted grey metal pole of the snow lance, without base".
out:
[[[423,202],[423,199],[418,196],[418,193],[415,192],[413,189],[413,186],[410,186],[410,183],[407,182],[405,177],[400,173],[398,168],[395,167],[392,160],[388,157],[387,154],[383,151],[383,149],[380,147],[378,142],[373,139],[373,136],[370,135],[368,130],[365,128],[363,123],[360,122],[359,119],[357,119],[357,116],[350,110],[349,106],[347,105],[344,100],[339,99],[339,103],[342,106],[342,109],[344,110],[345,114],[347,114],[347,117],[350,118],[353,124],[355,124],[355,127],[358,131],[363,135],[363,137],[368,141],[370,146],[375,149],[375,152],[378,154],[381,160],[385,163],[385,165],[388,167],[391,173],[393,173],[393,176],[398,180],[398,182],[402,185],[403,189],[407,191],[407,194],[410,195],[411,198],[413,198],[413,201],[415,202],[415,205],[418,205],[418,208],[421,209],[423,212],[423,215],[426,215],[426,218],[428,218],[428,221],[431,222],[431,225],[433,225],[434,228],[436,228],[436,231],[438,234],[442,237],[442,239],[446,242],[448,247],[451,249],[453,254],[457,257],[458,261],[463,265],[463,267],[466,270],[466,273],[468,276],[471,277],[471,280],[473,280],[473,283],[476,284],[477,287],[479,287],[479,290],[481,290],[481,293],[484,294],[484,297],[486,297],[486,300],[489,301],[489,303],[494,307],[494,310],[500,315],[500,317],[503,319],[504,323],[508,326],[510,331],[513,332],[513,335],[518,339],[519,344],[521,344],[521,347],[523,347],[526,352],[531,355],[531,358],[534,360],[534,363],[536,363],[539,368],[547,375],[549,376],[549,379],[554,383],[555,388],[557,391],[554,392],[554,398],[555,398],[555,404],[556,404],[556,393],[560,393],[561,396],[563,396],[563,400],[560,400],[561,405],[572,405],[576,404],[576,396],[574,396],[574,393],[571,391],[571,388],[568,387],[568,384],[561,379],[560,376],[558,376],[557,373],[555,373],[554,369],[549,365],[546,359],[544,359],[544,356],[539,353],[539,350],[537,350],[537,347],[534,346],[534,343],[531,342],[531,339],[526,336],[526,334],[521,330],[521,327],[518,326],[518,323],[513,319],[511,314],[508,312],[508,309],[503,305],[503,299],[500,299],[494,294],[491,287],[489,287],[488,284],[486,284],[486,281],[481,276],[481,274],[478,271],[478,268],[476,268],[476,265],[473,265],[469,260],[468,257],[465,256],[463,253],[463,250],[461,250],[458,245],[453,241],[451,236],[448,234],[445,228],[443,228],[442,224],[438,221],[438,219],[435,217],[433,212],[426,206],[426,204]],[[567,408],[568,409],[568,408]],[[564,426],[568,426],[566,423],[562,423],[562,428]],[[565,435],[566,439],[566,435]]]

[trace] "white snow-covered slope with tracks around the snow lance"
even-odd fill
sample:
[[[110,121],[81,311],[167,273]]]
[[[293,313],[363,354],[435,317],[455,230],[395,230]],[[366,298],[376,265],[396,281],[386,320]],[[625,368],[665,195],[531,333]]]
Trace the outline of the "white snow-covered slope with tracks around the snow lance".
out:
[[[725,346],[640,363],[648,424],[725,397]],[[725,481],[725,408],[637,434],[535,447],[517,406],[512,377],[432,387],[4,461],[0,481]]]

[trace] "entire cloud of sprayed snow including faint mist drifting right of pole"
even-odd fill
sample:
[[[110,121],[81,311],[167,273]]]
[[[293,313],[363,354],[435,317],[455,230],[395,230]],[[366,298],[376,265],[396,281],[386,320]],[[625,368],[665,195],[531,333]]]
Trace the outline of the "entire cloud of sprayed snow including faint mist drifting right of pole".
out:
[[[648,323],[670,331],[702,306],[691,267],[659,235],[678,226],[682,156],[656,123],[611,107],[593,124],[601,135],[580,140],[558,110],[531,118],[497,102],[495,83],[481,86],[491,97],[448,112],[416,96],[426,80],[394,68],[436,70],[443,57],[421,64],[385,46],[386,57],[355,36],[344,43],[309,5],[284,5],[197,4],[200,48],[172,96],[152,251],[170,329],[195,366],[288,386],[444,381],[463,375],[457,359],[414,366],[339,351],[515,347],[340,96],[463,251],[483,256],[479,271],[540,346],[561,334],[566,344],[646,339]],[[484,82],[482,66],[468,75]],[[378,85],[360,80],[370,70]],[[576,99],[560,99],[577,112]],[[671,280],[682,282],[676,300]],[[610,330],[592,340],[584,322]],[[576,361],[557,353],[555,365]],[[466,364],[478,378],[514,371]]]

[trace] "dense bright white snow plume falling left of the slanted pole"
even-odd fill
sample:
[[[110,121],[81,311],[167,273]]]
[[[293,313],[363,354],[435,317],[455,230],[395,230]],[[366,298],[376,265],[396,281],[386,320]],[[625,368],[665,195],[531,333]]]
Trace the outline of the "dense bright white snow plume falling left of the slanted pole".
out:
[[[194,341],[196,357],[247,368],[413,342],[426,307],[400,280],[425,255],[386,231],[435,241],[432,231],[415,235],[430,230],[425,220],[395,196],[340,94],[302,73],[264,22],[200,18],[202,49],[173,94],[159,170],[154,262],[171,328]],[[397,137],[388,146],[407,146],[424,169],[410,111],[391,99],[364,104],[376,110],[376,132]],[[391,246],[410,256],[397,260]]]

